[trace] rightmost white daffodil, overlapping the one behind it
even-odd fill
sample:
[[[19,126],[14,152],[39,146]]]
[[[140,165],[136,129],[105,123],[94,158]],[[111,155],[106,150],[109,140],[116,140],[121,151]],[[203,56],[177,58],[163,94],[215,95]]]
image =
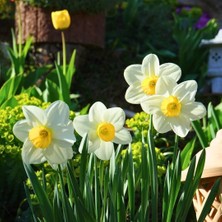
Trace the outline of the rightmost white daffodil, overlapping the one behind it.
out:
[[[173,130],[178,136],[185,137],[191,128],[191,121],[201,119],[206,114],[202,103],[195,102],[197,83],[189,80],[161,90],[168,92],[154,95],[141,103],[142,109],[153,114],[153,126],[159,133]]]

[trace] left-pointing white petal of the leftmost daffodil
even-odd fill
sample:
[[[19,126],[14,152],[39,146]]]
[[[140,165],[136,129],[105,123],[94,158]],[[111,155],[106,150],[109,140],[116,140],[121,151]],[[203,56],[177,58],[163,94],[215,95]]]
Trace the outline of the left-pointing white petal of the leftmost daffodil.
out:
[[[26,120],[20,120],[13,126],[13,133],[19,140],[25,142],[31,128],[32,127],[27,124]]]

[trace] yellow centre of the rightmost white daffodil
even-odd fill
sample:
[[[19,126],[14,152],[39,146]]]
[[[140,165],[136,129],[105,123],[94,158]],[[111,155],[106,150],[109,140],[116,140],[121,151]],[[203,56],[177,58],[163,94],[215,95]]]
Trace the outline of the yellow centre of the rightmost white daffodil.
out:
[[[181,111],[181,103],[177,97],[169,96],[163,100],[161,104],[161,111],[165,116],[179,116]]]

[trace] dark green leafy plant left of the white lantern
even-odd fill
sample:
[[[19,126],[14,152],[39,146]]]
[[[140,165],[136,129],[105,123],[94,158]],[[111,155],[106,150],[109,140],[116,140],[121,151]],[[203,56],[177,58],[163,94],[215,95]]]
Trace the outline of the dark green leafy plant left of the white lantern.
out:
[[[176,63],[183,70],[181,81],[195,79],[199,83],[199,87],[201,87],[205,82],[207,73],[209,50],[201,47],[201,40],[214,38],[218,31],[218,26],[215,19],[212,19],[205,27],[196,29],[194,22],[196,20],[193,17],[188,18],[174,14],[173,37],[177,43],[178,50],[176,52]]]

